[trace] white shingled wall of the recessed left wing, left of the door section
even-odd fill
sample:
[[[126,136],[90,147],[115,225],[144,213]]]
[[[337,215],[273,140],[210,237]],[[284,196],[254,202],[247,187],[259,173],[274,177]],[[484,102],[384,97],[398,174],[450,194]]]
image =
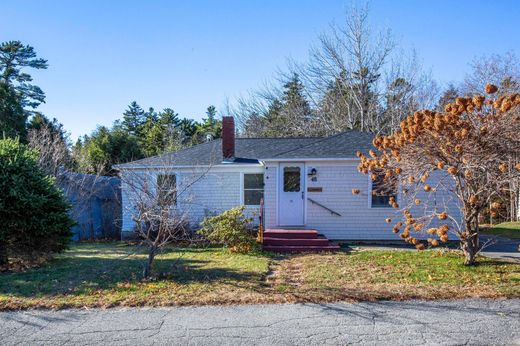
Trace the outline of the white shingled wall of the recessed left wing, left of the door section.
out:
[[[215,167],[200,169],[125,170],[122,177],[122,238],[133,234],[135,222],[132,215],[140,198],[139,187],[143,182],[154,186],[159,174],[175,174],[178,184],[177,208],[188,216],[193,228],[198,228],[206,216],[217,215],[243,204],[243,174],[263,173],[260,165],[250,167]],[[146,184],[146,183],[145,183]],[[246,215],[258,223],[258,207],[248,206]]]

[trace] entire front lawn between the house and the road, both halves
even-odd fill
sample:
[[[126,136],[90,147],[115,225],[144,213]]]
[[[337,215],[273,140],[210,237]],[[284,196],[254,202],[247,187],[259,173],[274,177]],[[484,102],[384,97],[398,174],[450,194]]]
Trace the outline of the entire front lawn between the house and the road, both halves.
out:
[[[0,273],[0,309],[520,297],[520,264],[454,251],[355,250],[272,256],[170,248],[151,281],[122,243],[83,243],[40,268]]]

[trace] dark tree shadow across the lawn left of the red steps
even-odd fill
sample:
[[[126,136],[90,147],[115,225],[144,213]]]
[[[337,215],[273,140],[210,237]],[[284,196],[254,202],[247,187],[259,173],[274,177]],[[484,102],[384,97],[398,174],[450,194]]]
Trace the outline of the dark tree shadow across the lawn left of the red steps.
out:
[[[117,254],[116,257],[88,257],[82,254],[92,253],[84,249],[73,250],[40,268],[0,273],[0,295],[27,298],[84,295],[114,288],[139,290],[141,284],[148,283],[142,280],[144,257],[137,258],[125,251],[111,251],[110,255]],[[263,273],[225,268],[218,263],[212,266],[209,260],[183,258],[182,254],[177,258],[158,256],[154,261],[153,273],[158,276],[150,284],[157,285],[241,285],[242,282],[260,285],[263,278]]]

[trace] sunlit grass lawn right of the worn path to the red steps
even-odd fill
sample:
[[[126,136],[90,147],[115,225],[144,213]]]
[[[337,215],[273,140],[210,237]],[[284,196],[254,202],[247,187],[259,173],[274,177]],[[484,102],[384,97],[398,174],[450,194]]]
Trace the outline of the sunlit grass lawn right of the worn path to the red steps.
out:
[[[359,250],[292,259],[300,291],[355,300],[520,297],[520,264],[479,258],[467,267],[448,250]],[[293,265],[294,266],[294,265]]]

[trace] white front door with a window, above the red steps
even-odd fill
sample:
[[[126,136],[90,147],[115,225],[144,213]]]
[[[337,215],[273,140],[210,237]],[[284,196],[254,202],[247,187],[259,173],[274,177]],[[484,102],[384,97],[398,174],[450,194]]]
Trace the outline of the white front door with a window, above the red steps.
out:
[[[280,226],[303,226],[305,206],[305,165],[281,163],[278,220]]]

